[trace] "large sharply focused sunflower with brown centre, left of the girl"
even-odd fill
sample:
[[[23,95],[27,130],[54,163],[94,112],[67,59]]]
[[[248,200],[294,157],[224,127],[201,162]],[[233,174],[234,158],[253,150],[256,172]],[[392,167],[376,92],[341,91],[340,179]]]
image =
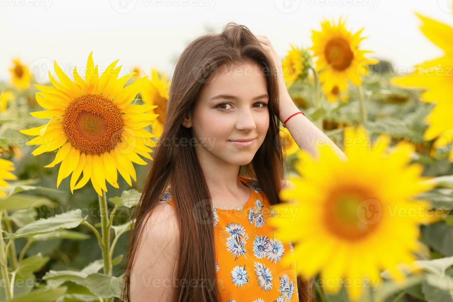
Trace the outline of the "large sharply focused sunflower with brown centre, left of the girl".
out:
[[[153,151],[149,147],[155,143],[150,138],[155,135],[143,128],[157,115],[143,112],[156,106],[130,104],[147,77],[123,87],[133,72],[117,78],[121,69],[116,67],[117,62],[111,63],[99,77],[90,53],[85,80],[74,68],[74,81],[54,62],[60,83],[49,72],[54,87],[35,85],[42,91],[36,93],[36,101],[47,110],[30,115],[50,120],[20,132],[37,135],[27,143],[40,145],[33,155],[58,149],[55,160],[45,166],[50,168],[61,162],[57,187],[72,173],[72,193],[91,179],[92,186],[102,196],[102,190],[107,191],[105,181],[119,187],[116,170],[130,186],[130,177],[136,181],[132,163],[146,164],[137,154],[152,160],[149,153]],[[83,177],[77,182],[82,172]]]

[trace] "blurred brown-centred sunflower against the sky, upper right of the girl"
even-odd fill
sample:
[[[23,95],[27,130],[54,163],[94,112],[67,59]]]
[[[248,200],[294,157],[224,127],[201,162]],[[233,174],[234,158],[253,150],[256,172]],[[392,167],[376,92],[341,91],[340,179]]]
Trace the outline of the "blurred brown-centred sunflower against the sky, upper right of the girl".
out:
[[[346,91],[347,80],[355,86],[361,85],[361,76],[368,74],[369,64],[376,64],[376,59],[365,58],[369,50],[359,49],[359,43],[365,39],[360,37],[363,28],[352,34],[345,28],[346,20],[323,20],[321,31],[312,29],[314,57],[319,81],[323,83],[325,94],[330,93],[335,86],[340,92]],[[321,72],[322,71],[322,72]]]

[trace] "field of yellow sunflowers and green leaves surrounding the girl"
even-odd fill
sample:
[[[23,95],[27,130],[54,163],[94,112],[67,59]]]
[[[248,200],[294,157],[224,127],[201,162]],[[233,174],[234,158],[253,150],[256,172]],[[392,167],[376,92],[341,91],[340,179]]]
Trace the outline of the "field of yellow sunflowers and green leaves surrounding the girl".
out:
[[[271,223],[316,301],[453,301],[453,19],[416,15],[443,55],[405,73],[345,18],[313,24],[310,47],[282,57],[293,101],[348,157],[328,144],[312,157],[281,127],[289,186],[275,209],[302,215]],[[0,82],[0,301],[120,301],[171,78],[120,76],[96,55],[54,62],[47,83],[13,58]]]

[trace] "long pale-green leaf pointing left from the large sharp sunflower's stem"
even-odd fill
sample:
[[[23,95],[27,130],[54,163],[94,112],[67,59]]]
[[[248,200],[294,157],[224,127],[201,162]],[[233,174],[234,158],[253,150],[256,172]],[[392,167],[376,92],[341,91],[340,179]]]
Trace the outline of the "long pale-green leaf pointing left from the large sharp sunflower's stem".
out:
[[[13,235],[5,239],[30,237],[38,234],[45,234],[55,230],[72,229],[80,225],[87,216],[82,217],[82,210],[74,209],[46,219],[39,219],[17,230]]]

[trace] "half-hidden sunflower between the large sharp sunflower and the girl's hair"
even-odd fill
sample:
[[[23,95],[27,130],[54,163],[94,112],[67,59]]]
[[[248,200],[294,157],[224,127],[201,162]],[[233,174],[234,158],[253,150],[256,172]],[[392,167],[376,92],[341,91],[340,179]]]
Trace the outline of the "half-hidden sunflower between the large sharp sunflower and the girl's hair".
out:
[[[151,69],[151,80],[145,81],[145,85],[140,92],[143,102],[152,105],[150,113],[158,114],[158,118],[153,121],[151,128],[157,136],[162,134],[164,129],[165,109],[169,100],[170,81],[167,81],[165,74],[159,78],[157,69]]]

